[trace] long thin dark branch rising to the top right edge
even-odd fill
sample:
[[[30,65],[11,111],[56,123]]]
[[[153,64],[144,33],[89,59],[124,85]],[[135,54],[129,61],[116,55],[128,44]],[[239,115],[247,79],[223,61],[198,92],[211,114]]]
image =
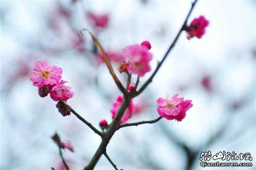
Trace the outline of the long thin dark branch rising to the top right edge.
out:
[[[143,92],[143,91],[146,89],[146,87],[149,85],[149,83],[152,82],[152,80],[153,80],[154,76],[156,75],[157,71],[159,70],[160,66],[162,66],[162,64],[164,63],[164,61],[165,61],[165,59],[167,58],[168,54],[170,53],[170,51],[172,50],[172,48],[175,46],[175,44],[176,44],[178,38],[180,37],[180,34],[181,34],[181,32],[183,31],[184,26],[186,26],[186,23],[187,23],[187,21],[188,21],[188,18],[189,18],[189,16],[190,16],[190,14],[191,14],[191,12],[192,12],[192,10],[193,10],[194,5],[196,4],[196,2],[197,2],[197,0],[195,0],[195,1],[192,3],[192,6],[191,6],[191,8],[190,8],[190,11],[189,11],[188,15],[186,16],[186,19],[185,19],[183,25],[181,26],[180,31],[178,32],[177,36],[176,36],[175,39],[173,40],[173,42],[172,42],[172,44],[170,45],[169,49],[168,49],[167,52],[165,53],[164,58],[162,59],[162,61],[157,65],[157,68],[156,68],[156,70],[154,71],[154,73],[153,73],[153,74],[150,76],[150,78],[143,84],[143,86],[141,86],[141,88],[138,90],[138,92],[133,93],[132,97],[135,97],[135,96],[138,96],[139,94],[141,94],[141,92]]]

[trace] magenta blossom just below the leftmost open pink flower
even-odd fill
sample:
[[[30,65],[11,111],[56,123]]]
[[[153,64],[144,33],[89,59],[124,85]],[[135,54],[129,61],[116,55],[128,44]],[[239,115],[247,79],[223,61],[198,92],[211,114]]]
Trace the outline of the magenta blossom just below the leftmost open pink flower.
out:
[[[65,86],[67,81],[60,81],[58,84],[54,85],[50,90],[50,97],[54,101],[58,100],[68,100],[73,97],[74,92],[70,91],[71,87]]]

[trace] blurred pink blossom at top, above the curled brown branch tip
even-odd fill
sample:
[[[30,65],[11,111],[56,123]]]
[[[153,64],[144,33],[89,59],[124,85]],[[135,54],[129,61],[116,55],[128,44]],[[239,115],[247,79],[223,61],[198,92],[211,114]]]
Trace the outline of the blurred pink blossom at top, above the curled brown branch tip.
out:
[[[108,24],[108,21],[109,21],[109,15],[108,14],[97,15],[95,13],[88,12],[87,17],[94,22],[94,26],[101,27],[101,28],[107,27],[107,24]]]

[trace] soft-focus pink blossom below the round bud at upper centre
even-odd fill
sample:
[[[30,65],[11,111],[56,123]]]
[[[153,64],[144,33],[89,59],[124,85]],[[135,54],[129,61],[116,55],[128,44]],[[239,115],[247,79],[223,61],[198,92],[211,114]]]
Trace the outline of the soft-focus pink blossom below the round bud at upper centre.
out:
[[[126,57],[128,62],[131,64],[128,68],[130,73],[138,74],[138,76],[144,76],[144,74],[151,71],[149,62],[152,60],[152,54],[144,45],[129,45],[123,49],[123,56]]]

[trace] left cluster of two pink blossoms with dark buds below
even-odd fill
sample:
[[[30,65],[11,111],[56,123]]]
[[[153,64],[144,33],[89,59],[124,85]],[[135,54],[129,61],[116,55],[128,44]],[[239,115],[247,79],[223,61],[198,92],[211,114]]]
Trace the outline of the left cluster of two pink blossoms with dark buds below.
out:
[[[66,116],[70,115],[66,101],[73,97],[74,92],[71,91],[71,87],[65,85],[67,81],[60,81],[62,72],[60,67],[50,66],[45,61],[37,61],[30,80],[38,87],[39,96],[45,97],[50,93],[52,100],[59,101],[56,107],[63,116]]]

